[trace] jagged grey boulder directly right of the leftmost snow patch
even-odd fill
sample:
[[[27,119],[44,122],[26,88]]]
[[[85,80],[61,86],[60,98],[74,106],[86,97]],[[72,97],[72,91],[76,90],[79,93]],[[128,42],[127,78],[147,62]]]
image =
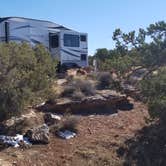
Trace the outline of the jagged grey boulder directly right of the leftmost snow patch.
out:
[[[49,127],[43,124],[42,126],[28,130],[25,136],[28,137],[32,143],[48,144],[50,140]]]

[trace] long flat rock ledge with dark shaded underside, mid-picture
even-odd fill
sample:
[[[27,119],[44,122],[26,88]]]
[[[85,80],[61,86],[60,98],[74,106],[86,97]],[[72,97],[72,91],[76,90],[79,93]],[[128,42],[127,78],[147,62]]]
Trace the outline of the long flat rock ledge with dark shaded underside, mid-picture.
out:
[[[116,107],[118,104],[127,103],[126,95],[122,95],[112,90],[100,90],[93,96],[86,96],[80,100],[71,100],[70,98],[59,98],[55,105],[48,104],[39,107],[39,110],[62,113],[64,110],[71,110],[70,113],[83,113],[99,111]],[[102,109],[101,109],[102,108]]]

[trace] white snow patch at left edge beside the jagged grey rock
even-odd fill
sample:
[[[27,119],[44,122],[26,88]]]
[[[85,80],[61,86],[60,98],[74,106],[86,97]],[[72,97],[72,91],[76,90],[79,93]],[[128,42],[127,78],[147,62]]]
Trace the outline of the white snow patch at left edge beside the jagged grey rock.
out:
[[[15,148],[20,146],[20,142],[24,142],[26,145],[31,145],[31,143],[28,141],[28,138],[23,137],[23,135],[20,134],[16,134],[15,137],[0,135],[0,142]]]

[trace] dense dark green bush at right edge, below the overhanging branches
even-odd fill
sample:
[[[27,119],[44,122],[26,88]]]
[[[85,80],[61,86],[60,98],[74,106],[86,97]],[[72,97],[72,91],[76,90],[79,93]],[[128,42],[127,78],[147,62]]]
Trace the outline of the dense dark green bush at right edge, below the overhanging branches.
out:
[[[160,69],[157,75],[152,75],[141,82],[141,92],[144,101],[148,103],[149,113],[155,118],[165,121],[166,116],[166,69]]]

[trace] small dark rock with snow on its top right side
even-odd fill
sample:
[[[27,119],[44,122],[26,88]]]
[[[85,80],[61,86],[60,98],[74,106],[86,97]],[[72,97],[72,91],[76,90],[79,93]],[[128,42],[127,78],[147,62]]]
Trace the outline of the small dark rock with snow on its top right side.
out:
[[[44,121],[47,125],[53,125],[61,120],[61,117],[52,113],[44,114]]]

